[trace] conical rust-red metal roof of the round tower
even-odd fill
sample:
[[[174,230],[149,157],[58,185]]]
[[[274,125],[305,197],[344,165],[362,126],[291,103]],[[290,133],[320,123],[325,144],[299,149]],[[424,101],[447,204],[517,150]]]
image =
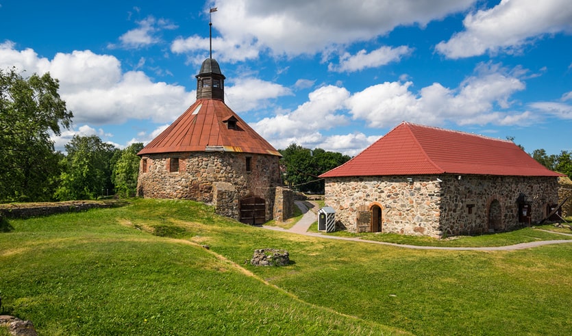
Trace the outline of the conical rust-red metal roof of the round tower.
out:
[[[228,127],[229,121],[236,122],[236,128]],[[282,156],[220,99],[195,101],[138,155],[197,151]]]

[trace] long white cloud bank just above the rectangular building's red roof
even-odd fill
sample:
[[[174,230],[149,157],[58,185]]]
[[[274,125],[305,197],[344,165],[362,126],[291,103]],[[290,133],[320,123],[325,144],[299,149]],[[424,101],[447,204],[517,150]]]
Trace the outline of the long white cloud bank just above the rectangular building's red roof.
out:
[[[369,86],[351,94],[345,88],[323,86],[308,95],[308,101],[294,111],[280,112],[256,122],[256,129],[278,148],[296,143],[356,155],[380,135],[361,132],[327,135],[330,128],[350,122],[377,128],[394,127],[406,120],[425,125],[530,125],[538,120],[532,112],[514,112],[510,97],[524,90],[521,68],[499,64],[479,64],[475,73],[456,88],[432,83],[414,91],[412,81],[394,81]],[[539,107],[535,106],[535,107]],[[552,105],[553,113],[554,105]],[[567,116],[560,106],[561,114]],[[351,116],[351,119],[347,116]]]

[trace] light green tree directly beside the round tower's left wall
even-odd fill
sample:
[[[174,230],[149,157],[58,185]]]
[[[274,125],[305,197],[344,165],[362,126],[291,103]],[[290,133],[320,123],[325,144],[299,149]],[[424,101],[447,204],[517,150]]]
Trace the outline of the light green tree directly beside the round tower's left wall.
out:
[[[140,161],[137,153],[142,149],[143,144],[137,142],[118,152],[121,154],[113,166],[112,181],[115,185],[115,192],[119,197],[134,196],[137,192]]]

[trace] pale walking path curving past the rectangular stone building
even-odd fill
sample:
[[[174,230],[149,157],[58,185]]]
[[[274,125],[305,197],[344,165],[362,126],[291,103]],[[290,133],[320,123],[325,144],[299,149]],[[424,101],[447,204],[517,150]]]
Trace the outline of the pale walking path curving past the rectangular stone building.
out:
[[[308,203],[312,205],[312,207],[308,207]],[[334,239],[334,240],[349,240],[353,242],[364,242],[369,244],[380,244],[380,245],[389,245],[389,246],[396,246],[401,248],[414,248],[417,250],[476,250],[476,251],[499,251],[499,250],[522,250],[523,248],[533,248],[537,246],[543,245],[551,245],[551,244],[564,244],[564,243],[572,243],[572,240],[540,240],[538,242],[527,242],[515,245],[508,245],[508,246],[490,246],[490,247],[443,247],[443,246],[417,246],[417,245],[406,245],[406,244],[395,244],[395,243],[388,243],[388,242],[377,242],[375,240],[364,240],[360,237],[337,237],[335,235],[323,235],[322,233],[315,233],[315,232],[308,232],[312,223],[316,222],[317,220],[317,211],[318,205],[313,202],[303,202],[303,201],[295,201],[296,206],[302,211],[304,214],[302,218],[294,224],[293,227],[290,229],[282,229],[281,227],[266,227],[262,226],[264,229],[275,230],[275,231],[286,231],[291,233],[297,233],[300,235],[308,235],[311,237],[321,237],[327,239]],[[542,230],[546,231],[546,230]],[[558,233],[560,235],[567,235],[572,236],[569,233],[559,233],[553,231],[546,231],[550,233]]]

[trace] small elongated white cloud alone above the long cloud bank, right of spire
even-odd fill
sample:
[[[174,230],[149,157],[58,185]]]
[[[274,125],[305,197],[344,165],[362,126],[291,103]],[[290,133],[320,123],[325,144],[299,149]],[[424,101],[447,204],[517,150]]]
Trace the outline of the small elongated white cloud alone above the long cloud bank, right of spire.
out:
[[[356,55],[344,53],[340,56],[340,64],[334,65],[330,63],[328,69],[338,73],[351,73],[353,71],[364,70],[366,68],[375,68],[383,66],[390,62],[398,62],[401,57],[409,55],[412,49],[407,46],[400,46],[397,48],[381,47],[368,53],[361,50]]]

